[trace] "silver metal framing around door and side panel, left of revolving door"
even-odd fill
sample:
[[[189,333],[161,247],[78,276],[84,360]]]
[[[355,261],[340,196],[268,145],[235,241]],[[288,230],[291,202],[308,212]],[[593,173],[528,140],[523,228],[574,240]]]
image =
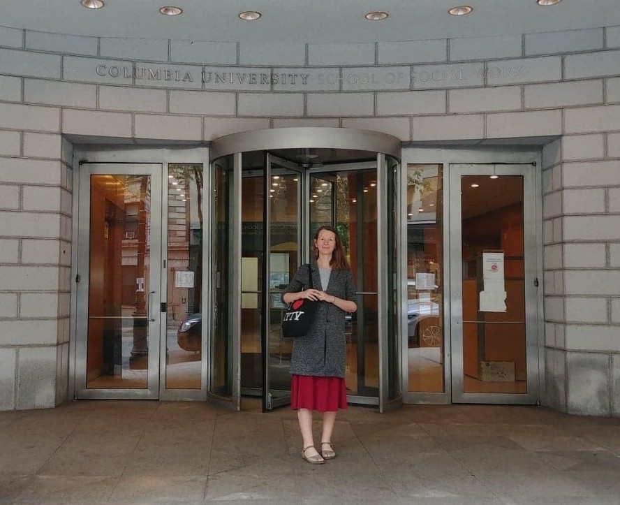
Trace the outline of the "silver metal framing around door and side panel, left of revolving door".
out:
[[[206,147],[136,147],[136,146],[105,146],[105,145],[83,145],[74,148],[73,152],[73,187],[77,198],[73,198],[73,237],[77,237],[72,250],[72,276],[71,284],[71,337],[69,346],[69,388],[70,397],[82,398],[129,398],[137,399],[145,397],[143,390],[95,390],[80,388],[80,384],[85,385],[85,353],[80,356],[83,349],[80,339],[77,335],[86,338],[83,331],[83,324],[80,323],[83,316],[87,315],[87,298],[83,300],[78,296],[78,286],[76,283],[77,276],[83,281],[88,277],[88,256],[89,256],[89,207],[90,200],[88,195],[84,195],[84,191],[89,191],[89,181],[84,180],[85,174],[80,167],[84,163],[106,164],[112,166],[131,165],[145,166],[156,165],[158,170],[152,174],[152,228],[151,228],[151,244],[154,242],[159,244],[159,265],[163,265],[162,261],[167,258],[168,236],[165,233],[168,223],[168,184],[163,184],[168,180],[168,166],[170,164],[202,164],[204,170],[204,194],[211,194],[212,177],[209,170],[209,149]],[[139,174],[140,170],[138,170]],[[83,188],[88,186],[87,190]],[[210,215],[209,198],[202,199],[202,213],[205,216]],[[161,212],[159,210],[161,209]],[[154,226],[153,226],[154,225]],[[210,219],[203,222],[203,237],[211,236],[212,223]],[[84,270],[85,265],[85,270]],[[202,314],[205,320],[212,320],[211,307],[211,278],[212,263],[210,260],[210,249],[203,245],[202,247],[202,265],[203,265],[203,281],[202,281]],[[152,269],[152,273],[156,270]],[[154,314],[158,320],[157,335],[159,336],[154,352],[149,353],[149,388],[152,390],[147,397],[158,400],[205,400],[207,397],[207,386],[209,376],[207,374],[208,342],[211,335],[209,325],[202,325],[202,364],[200,369],[201,385],[200,389],[165,389],[165,317],[161,317],[161,303],[167,301],[167,271],[161,268],[158,276],[159,296],[152,300]],[[80,284],[82,284],[80,282]],[[86,284],[87,286],[87,284]],[[79,293],[82,293],[80,287]],[[87,291],[86,291],[87,293]],[[149,328],[150,330],[150,328]],[[149,336],[151,332],[149,331]],[[150,337],[149,337],[150,338]],[[150,349],[150,348],[149,348]],[[156,365],[151,366],[151,360],[156,360]],[[83,372],[80,372],[83,370]],[[154,379],[151,374],[155,374]],[[84,379],[82,379],[84,375]],[[156,381],[156,382],[155,382]],[[157,388],[151,387],[151,384],[158,384]],[[107,393],[107,392],[110,393]],[[135,393],[131,393],[135,391]],[[118,394],[117,394],[118,393]]]

